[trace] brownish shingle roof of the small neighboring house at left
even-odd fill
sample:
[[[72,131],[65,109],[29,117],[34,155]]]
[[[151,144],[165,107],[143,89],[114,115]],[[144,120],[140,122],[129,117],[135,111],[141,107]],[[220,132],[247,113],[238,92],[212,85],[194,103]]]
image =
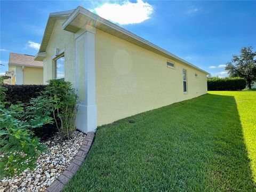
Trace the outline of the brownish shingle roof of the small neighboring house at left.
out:
[[[42,61],[35,61],[35,56],[19,53],[10,53],[9,65],[19,65],[28,67],[43,67]]]

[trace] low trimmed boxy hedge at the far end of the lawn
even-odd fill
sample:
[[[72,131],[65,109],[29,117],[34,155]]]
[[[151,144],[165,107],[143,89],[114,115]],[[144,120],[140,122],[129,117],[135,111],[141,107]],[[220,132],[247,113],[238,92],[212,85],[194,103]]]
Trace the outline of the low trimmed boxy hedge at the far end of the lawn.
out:
[[[237,91],[245,89],[246,81],[244,78],[207,78],[208,91]]]

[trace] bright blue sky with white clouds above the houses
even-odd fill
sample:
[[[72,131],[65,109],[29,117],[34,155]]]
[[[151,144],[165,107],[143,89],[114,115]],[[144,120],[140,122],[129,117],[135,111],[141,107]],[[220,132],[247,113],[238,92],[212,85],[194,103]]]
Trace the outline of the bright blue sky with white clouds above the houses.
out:
[[[256,1],[1,1],[0,73],[9,51],[35,55],[49,13],[83,6],[213,76],[243,46],[256,49]]]

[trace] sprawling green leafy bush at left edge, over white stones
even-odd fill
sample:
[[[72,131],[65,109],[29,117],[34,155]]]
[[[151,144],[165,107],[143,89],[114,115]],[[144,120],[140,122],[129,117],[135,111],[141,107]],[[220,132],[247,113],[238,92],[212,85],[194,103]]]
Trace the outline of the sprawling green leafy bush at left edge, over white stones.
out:
[[[0,86],[0,176],[12,176],[34,169],[36,159],[46,149],[34,137],[33,129],[51,123],[50,111],[38,99],[31,100],[26,110],[21,103],[6,99],[6,87]]]

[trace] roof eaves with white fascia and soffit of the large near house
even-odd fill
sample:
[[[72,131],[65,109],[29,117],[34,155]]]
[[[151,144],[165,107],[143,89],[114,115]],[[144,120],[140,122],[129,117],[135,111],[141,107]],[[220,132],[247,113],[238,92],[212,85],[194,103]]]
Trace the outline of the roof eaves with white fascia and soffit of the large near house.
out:
[[[56,19],[62,18],[66,19],[66,21],[62,25],[63,30],[70,31],[71,33],[76,33],[78,30],[83,28],[85,25],[90,25],[95,28],[98,28],[102,31],[105,31],[106,33],[109,33],[111,35],[117,36],[121,39],[124,39],[125,41],[128,41],[130,43],[133,43],[135,45],[138,45],[140,47],[143,47],[144,49],[147,49],[149,51],[155,52],[159,55],[162,55],[168,59],[172,59],[174,61],[179,61],[185,65],[188,65],[190,67],[193,67],[195,69],[198,69],[202,71],[205,74],[209,74],[203,69],[191,64],[188,61],[183,60],[182,58],[178,57],[177,55],[174,55],[161,47],[150,43],[146,39],[143,39],[130,31],[117,26],[116,24],[103,19],[99,17],[98,15],[90,12],[89,10],[84,9],[81,6],[78,6],[75,10],[70,11],[62,11],[62,12],[55,12],[51,13],[49,15],[49,19],[47,22],[47,26],[44,32],[44,37],[41,43],[41,47],[39,49],[38,54],[35,57],[35,60],[43,60],[44,52],[46,51],[47,44],[50,40],[50,36],[52,33],[52,30],[54,28],[54,24]]]

